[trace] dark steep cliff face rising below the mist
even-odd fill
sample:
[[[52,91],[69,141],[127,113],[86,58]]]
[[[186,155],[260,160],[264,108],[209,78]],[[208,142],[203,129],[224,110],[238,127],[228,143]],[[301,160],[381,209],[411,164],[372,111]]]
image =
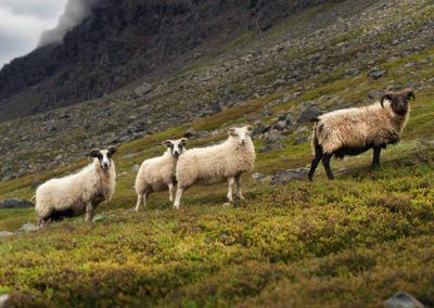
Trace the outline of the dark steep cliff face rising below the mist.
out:
[[[101,0],[61,44],[3,67],[0,121],[99,98],[154,70],[170,75],[177,61],[324,2],[340,0]]]

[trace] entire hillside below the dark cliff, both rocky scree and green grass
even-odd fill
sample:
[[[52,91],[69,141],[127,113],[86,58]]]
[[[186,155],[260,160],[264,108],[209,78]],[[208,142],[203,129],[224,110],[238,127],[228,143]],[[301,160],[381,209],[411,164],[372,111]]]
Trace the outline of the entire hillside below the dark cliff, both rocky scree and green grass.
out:
[[[248,31],[181,72],[0,125],[0,201],[29,200],[36,180],[82,167],[115,143],[118,181],[98,221],[0,236],[0,294],[17,307],[383,307],[407,291],[434,307],[434,1],[343,1]],[[148,82],[144,84],[144,80]],[[314,182],[270,185],[306,167],[306,115],[370,104],[411,87],[403,141],[332,161]],[[256,180],[224,207],[227,184],[194,187],[174,210],[167,193],[131,213],[135,169],[167,138],[188,147],[253,124]],[[29,150],[30,149],[30,150]],[[0,231],[36,222],[0,209]]]

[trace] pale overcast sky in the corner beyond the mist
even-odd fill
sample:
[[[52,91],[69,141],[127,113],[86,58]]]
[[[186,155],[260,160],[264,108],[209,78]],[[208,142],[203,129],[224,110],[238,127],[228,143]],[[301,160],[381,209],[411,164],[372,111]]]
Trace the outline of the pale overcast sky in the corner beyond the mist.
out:
[[[0,68],[33,51],[54,28],[67,0],[0,0]]]

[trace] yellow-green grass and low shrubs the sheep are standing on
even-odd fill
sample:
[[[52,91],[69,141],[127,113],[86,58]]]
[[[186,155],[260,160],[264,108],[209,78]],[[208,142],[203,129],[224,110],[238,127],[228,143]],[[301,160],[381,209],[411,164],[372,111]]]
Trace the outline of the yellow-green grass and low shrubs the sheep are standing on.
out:
[[[347,79],[329,76],[297,100],[272,108],[288,112],[323,94],[354,101],[391,80],[426,79],[434,73],[431,63],[401,66],[433,53],[384,64],[390,76],[373,84],[360,81],[367,72]],[[410,77],[410,70],[416,75]],[[158,193],[151,195],[145,210],[125,214],[136,201],[131,167],[157,155],[155,150],[163,150],[158,142],[190,127],[213,130],[242,121],[283,93],[122,146],[115,158],[122,176],[112,203],[99,210],[102,220],[87,224],[82,218],[68,219],[35,233],[0,238],[0,294],[18,291],[13,295],[17,304],[48,307],[382,307],[382,300],[406,290],[434,307],[434,149],[411,141],[433,138],[432,85],[417,91],[406,141],[388,147],[372,175],[367,172],[367,153],[333,162],[340,174],[334,182],[324,179],[322,169],[312,183],[278,188],[246,176],[247,201],[235,202],[235,207],[221,206],[226,184],[220,184],[189,190],[180,210],[171,209],[167,193]],[[258,154],[255,171],[269,175],[307,165],[309,144],[292,145],[296,134],[288,133],[285,149]],[[225,133],[192,140],[189,146],[222,138]],[[255,145],[260,147],[261,141]],[[31,197],[34,180],[0,183],[0,200]],[[16,230],[27,221],[35,222],[33,209],[0,211],[0,230]]]

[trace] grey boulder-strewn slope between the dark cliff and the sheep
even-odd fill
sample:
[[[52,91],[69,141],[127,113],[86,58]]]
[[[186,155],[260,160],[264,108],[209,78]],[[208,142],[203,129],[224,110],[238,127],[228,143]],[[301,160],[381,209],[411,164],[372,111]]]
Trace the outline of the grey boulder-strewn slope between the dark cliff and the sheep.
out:
[[[2,124],[1,179],[71,164],[101,144],[182,124],[189,129],[210,115],[228,116],[222,127],[256,121],[259,138],[269,143],[282,140],[282,132],[306,141],[304,119],[293,120],[301,115],[371,101],[386,88],[433,87],[433,7],[416,0],[320,5],[264,33],[239,36],[170,77],[158,79],[154,72],[150,84]],[[232,110],[242,113],[232,116]],[[283,112],[276,117],[276,110]]]

